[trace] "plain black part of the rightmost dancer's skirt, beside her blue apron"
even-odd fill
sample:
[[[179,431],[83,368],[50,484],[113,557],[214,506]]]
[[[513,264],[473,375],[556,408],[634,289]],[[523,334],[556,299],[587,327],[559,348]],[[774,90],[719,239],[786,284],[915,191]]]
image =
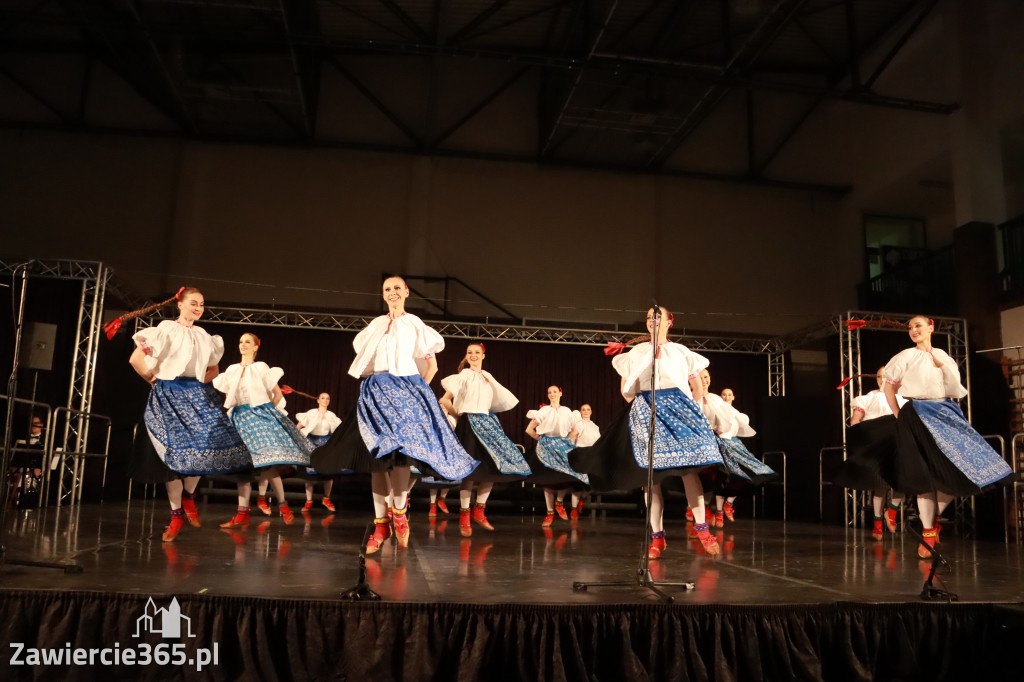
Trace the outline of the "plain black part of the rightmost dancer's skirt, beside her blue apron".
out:
[[[893,489],[906,495],[938,491],[953,497],[981,493],[982,488],[968,478],[935,443],[935,438],[913,407],[913,400],[903,406],[896,420],[899,456],[894,468]]]

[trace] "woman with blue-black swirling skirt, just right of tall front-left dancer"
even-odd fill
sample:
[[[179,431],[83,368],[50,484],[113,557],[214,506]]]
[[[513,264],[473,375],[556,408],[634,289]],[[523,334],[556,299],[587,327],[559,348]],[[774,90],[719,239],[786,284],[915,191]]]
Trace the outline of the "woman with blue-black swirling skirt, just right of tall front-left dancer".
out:
[[[529,465],[495,417],[495,413],[511,410],[519,400],[483,370],[484,357],[482,343],[469,344],[466,356],[459,363],[458,374],[441,380],[444,388],[441,406],[458,420],[455,434],[469,456],[480,463],[462,480],[459,489],[459,530],[464,538],[473,535],[470,520],[487,530],[495,529],[484,514],[495,482],[529,475]],[[470,507],[474,483],[476,504]]]

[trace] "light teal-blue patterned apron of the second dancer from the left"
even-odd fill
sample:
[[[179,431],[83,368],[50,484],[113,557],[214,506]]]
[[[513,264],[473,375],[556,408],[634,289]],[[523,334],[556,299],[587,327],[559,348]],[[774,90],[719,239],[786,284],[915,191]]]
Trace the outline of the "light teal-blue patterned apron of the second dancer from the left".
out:
[[[309,464],[313,452],[309,439],[270,402],[237,406],[231,410],[231,424],[249,449],[253,466]]]

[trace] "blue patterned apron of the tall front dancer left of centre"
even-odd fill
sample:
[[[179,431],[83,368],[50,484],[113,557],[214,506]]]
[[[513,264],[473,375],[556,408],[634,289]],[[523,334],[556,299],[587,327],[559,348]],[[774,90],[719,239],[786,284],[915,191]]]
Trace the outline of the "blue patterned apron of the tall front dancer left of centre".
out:
[[[445,480],[462,480],[479,464],[456,438],[437,397],[419,375],[379,373],[364,379],[356,417],[359,435],[375,459],[399,453],[426,465],[418,467],[424,474]]]

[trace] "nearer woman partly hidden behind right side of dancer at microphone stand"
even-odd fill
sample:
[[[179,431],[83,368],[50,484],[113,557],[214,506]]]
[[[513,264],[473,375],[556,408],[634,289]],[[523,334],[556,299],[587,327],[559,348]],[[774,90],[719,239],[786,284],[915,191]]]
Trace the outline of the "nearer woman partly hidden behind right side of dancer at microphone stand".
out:
[[[773,477],[775,475],[774,470],[751,455],[751,452],[739,440],[739,436],[748,437],[757,434],[750,427],[750,419],[746,415],[740,413],[720,396],[710,391],[711,373],[708,370],[700,371],[700,384],[705,390],[705,395],[700,402],[701,410],[708,419],[708,423],[712,426],[712,430],[715,431],[721,440],[726,464],[730,469],[734,465],[738,466],[745,474],[742,476],[745,479],[744,482],[760,483]],[[718,492],[725,492],[727,488],[744,485],[744,483],[726,482],[720,477],[716,478],[718,480]],[[725,527],[725,517],[727,515],[730,521],[734,520],[735,510],[732,507],[732,503],[735,499],[736,496],[732,496],[726,500],[724,495],[716,494],[715,501],[718,511],[715,512],[714,525],[720,528]],[[708,524],[712,525],[710,520]]]

